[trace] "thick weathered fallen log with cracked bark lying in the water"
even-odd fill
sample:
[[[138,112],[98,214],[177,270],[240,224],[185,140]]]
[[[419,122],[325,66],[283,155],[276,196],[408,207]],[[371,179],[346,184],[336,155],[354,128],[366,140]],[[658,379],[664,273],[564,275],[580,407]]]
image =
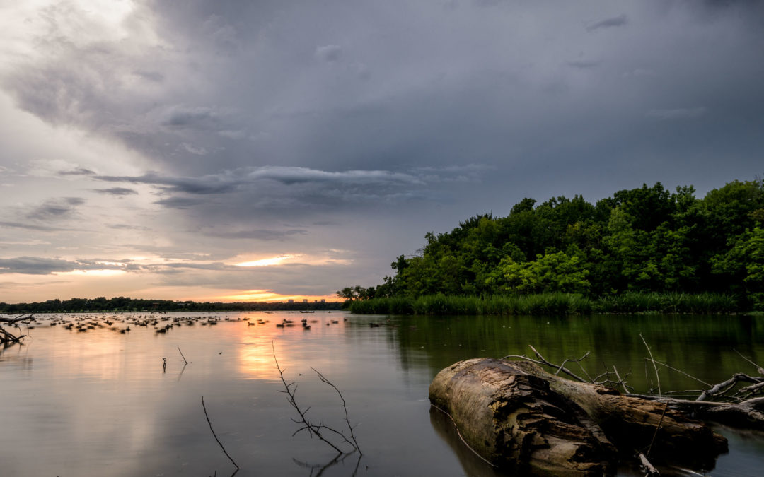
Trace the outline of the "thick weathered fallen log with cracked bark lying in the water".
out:
[[[529,362],[461,361],[435,376],[429,398],[475,452],[519,473],[610,474],[619,459],[640,452],[652,462],[708,469],[727,450],[724,437],[663,403]]]

